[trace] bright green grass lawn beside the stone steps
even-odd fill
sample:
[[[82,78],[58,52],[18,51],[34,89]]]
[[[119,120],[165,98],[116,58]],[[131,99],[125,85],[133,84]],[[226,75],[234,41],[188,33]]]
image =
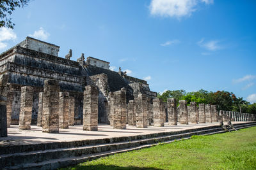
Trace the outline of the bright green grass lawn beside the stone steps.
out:
[[[256,127],[84,162],[67,169],[256,169]]]

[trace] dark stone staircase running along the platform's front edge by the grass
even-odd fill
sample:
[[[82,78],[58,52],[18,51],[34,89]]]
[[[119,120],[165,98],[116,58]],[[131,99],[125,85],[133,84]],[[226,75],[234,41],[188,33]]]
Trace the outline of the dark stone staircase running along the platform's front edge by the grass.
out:
[[[236,129],[255,126],[256,122],[235,124]],[[177,132],[159,132],[138,136],[90,139],[84,141],[0,146],[0,169],[57,169],[106,157],[115,153],[139,150],[159,143],[188,139],[193,135],[225,132],[219,125]]]

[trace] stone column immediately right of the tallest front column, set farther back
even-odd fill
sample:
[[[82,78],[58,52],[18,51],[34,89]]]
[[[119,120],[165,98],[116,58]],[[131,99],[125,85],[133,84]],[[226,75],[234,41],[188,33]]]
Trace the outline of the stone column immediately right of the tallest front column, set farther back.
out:
[[[60,103],[59,103],[59,126],[61,129],[68,129],[69,124],[69,109],[70,109],[70,98],[68,92],[60,92]]]

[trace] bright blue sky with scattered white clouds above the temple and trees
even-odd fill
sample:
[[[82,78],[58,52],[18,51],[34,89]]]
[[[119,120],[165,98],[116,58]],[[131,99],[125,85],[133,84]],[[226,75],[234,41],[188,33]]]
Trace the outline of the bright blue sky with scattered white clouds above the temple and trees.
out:
[[[227,90],[256,102],[256,1],[34,0],[0,29],[0,52],[26,36],[122,67],[156,92]]]

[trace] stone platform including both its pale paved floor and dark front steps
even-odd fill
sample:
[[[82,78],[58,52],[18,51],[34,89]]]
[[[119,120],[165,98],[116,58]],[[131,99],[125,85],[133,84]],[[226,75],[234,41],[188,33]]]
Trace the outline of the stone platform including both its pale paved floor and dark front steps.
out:
[[[255,126],[256,122],[233,124],[236,129],[243,129]],[[218,123],[148,128],[127,126],[127,129],[101,124],[99,131],[82,129],[82,125],[77,125],[60,129],[58,134],[48,134],[42,132],[41,127],[32,125],[30,131],[23,131],[12,125],[8,137],[0,141],[0,169],[58,169],[159,143],[189,139],[193,135],[225,132]]]

